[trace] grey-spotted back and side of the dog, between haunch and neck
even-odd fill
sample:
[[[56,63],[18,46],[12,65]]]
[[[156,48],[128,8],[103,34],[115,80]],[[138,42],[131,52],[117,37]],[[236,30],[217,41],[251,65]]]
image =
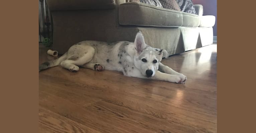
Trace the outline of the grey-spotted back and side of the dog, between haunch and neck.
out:
[[[92,46],[95,54],[91,63],[100,63],[107,70],[122,71],[124,65],[132,65],[134,52],[134,43],[129,41],[119,41],[106,43],[99,41],[83,41],[78,44],[81,46]],[[127,61],[128,60],[128,61]],[[128,63],[129,62],[129,63]]]

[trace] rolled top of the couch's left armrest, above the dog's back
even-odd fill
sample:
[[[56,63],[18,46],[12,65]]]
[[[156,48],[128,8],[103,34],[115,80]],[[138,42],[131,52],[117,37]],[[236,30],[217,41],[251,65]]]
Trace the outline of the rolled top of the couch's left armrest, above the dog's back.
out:
[[[51,11],[57,10],[101,10],[115,9],[125,0],[47,0]]]

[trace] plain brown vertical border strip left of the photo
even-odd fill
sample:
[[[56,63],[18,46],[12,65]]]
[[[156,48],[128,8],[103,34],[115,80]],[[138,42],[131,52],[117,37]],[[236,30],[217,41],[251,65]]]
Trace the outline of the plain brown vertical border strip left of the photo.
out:
[[[0,132],[38,132],[38,1],[1,1]]]

